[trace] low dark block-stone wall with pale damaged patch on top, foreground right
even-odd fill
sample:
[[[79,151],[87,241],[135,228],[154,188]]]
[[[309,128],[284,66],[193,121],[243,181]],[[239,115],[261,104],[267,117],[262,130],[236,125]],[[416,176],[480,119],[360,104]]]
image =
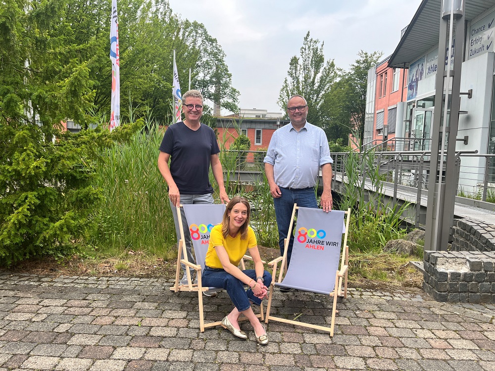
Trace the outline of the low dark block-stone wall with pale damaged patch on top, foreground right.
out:
[[[423,290],[441,302],[495,303],[494,262],[495,251],[425,251]]]

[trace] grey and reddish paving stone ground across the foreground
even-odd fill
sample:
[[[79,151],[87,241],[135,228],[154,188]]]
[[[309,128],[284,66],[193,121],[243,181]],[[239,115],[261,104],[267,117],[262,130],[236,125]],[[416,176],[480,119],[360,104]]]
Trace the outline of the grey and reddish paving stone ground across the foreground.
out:
[[[438,303],[422,292],[350,289],[334,337],[270,322],[270,343],[221,327],[199,332],[198,298],[158,278],[0,272],[0,371],[495,371],[495,306]],[[207,320],[232,306],[204,297]],[[274,315],[330,323],[330,301],[276,292]]]

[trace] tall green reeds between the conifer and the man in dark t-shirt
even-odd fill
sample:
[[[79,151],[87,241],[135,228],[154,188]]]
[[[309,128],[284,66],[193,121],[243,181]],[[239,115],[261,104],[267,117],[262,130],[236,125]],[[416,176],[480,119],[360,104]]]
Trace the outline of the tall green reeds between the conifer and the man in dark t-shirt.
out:
[[[134,250],[165,258],[175,256],[175,227],[167,187],[157,169],[163,130],[149,122],[127,144],[100,153],[98,186],[104,200],[96,218],[93,244],[100,252]]]

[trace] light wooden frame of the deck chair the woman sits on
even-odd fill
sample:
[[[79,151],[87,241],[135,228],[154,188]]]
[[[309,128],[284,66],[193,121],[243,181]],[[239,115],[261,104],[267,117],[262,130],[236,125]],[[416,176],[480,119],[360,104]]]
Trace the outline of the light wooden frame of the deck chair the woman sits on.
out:
[[[203,291],[220,291],[220,290],[223,290],[223,288],[203,287],[203,285],[201,283],[201,271],[202,271],[202,267],[204,266],[204,262],[202,262],[201,264],[194,264],[194,263],[189,261],[188,256],[187,256],[187,251],[186,251],[186,243],[185,243],[186,239],[185,239],[185,234],[184,234],[184,226],[182,224],[181,209],[180,209],[181,207],[183,207],[183,205],[177,206],[177,216],[178,216],[178,220],[179,220],[179,230],[180,230],[181,235],[180,235],[180,239],[179,239],[179,248],[178,248],[178,254],[177,254],[177,267],[176,267],[176,271],[175,271],[175,283],[172,287],[170,287],[170,290],[174,291],[174,292],[180,292],[180,291],[198,292],[199,329],[201,332],[204,332],[205,328],[221,325],[222,322],[217,321],[217,322],[211,322],[211,323],[206,323],[206,324],[204,323],[202,292]],[[217,221],[213,221],[213,222],[216,223]],[[221,220],[218,222],[220,223]],[[216,224],[218,224],[218,223],[216,223]],[[192,248],[194,248],[194,247],[192,247]],[[206,246],[206,249],[207,248],[208,248],[208,246]],[[184,257],[183,259],[181,259],[181,255]],[[246,269],[244,259],[252,261],[252,258],[249,255],[244,255],[244,257],[243,257],[243,259],[241,259],[241,263],[240,263],[242,270]],[[263,262],[263,264],[266,263],[265,261],[262,261],[262,262]],[[186,275],[187,275],[188,282],[187,282],[187,284],[180,284],[179,279],[180,279],[181,263],[184,264],[186,267],[194,269],[196,271],[197,283],[193,282],[193,277],[191,275],[191,272],[189,269],[186,268]],[[259,319],[261,319],[261,321],[263,321],[264,320],[263,303],[261,303],[261,305],[259,307],[259,312],[260,313],[258,315],[256,315],[256,317],[258,317]],[[241,316],[239,318],[239,321],[246,321],[246,320],[247,320],[247,318],[244,316]]]

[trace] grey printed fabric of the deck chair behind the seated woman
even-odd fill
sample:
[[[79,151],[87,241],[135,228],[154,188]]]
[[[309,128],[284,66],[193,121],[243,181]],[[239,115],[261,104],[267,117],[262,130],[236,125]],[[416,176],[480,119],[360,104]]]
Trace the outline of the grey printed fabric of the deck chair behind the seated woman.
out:
[[[196,204],[183,205],[186,214],[187,226],[191,233],[196,264],[204,268],[204,259],[208,251],[211,229],[217,224],[222,223],[223,213],[225,212],[224,204]]]

